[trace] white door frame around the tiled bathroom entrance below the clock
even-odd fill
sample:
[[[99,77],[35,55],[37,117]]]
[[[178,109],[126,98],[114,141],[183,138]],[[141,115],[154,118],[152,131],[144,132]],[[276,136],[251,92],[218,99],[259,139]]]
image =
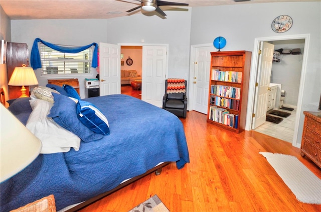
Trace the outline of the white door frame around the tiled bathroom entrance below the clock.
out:
[[[293,35],[282,35],[282,36],[272,36],[272,37],[257,37],[254,39],[245,130],[251,130],[252,128],[252,114],[254,110],[254,101],[256,100],[255,99],[255,82],[258,74],[259,44],[260,42],[263,42],[263,41],[290,40],[290,39],[304,39],[301,78],[300,78],[299,93],[298,93],[297,107],[296,107],[297,112],[295,117],[295,126],[294,126],[293,140],[292,140],[293,146],[300,147],[300,142],[298,142],[297,139],[298,139],[298,131],[299,131],[299,122],[302,115],[301,108],[302,108],[302,99],[303,99],[303,88],[305,83],[307,57],[308,57],[309,43],[310,43],[310,34],[293,34]]]

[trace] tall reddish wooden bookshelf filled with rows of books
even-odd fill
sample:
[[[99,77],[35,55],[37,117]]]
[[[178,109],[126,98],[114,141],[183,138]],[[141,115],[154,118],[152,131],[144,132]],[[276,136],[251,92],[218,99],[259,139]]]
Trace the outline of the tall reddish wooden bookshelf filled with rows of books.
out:
[[[207,121],[234,132],[245,128],[251,51],[211,52]]]

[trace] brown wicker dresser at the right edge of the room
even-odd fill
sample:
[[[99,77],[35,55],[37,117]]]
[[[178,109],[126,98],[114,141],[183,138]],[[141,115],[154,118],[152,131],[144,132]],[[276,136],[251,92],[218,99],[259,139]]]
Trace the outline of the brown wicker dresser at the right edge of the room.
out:
[[[321,168],[321,112],[303,111],[303,114],[301,155],[306,155]]]

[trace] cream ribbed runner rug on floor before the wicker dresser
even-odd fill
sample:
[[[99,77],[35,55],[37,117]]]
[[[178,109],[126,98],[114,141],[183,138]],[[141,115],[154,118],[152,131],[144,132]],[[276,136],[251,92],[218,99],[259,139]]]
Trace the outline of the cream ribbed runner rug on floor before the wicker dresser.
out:
[[[260,152],[271,164],[297,200],[321,204],[321,179],[313,174],[295,156],[271,152]]]

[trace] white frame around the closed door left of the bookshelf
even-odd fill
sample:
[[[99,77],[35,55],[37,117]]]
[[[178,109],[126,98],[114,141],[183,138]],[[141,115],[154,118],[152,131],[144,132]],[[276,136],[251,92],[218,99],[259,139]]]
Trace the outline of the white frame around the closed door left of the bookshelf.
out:
[[[193,110],[193,102],[194,102],[194,58],[196,56],[196,48],[201,47],[211,47],[213,46],[213,43],[204,43],[204,44],[197,44],[197,45],[191,45],[191,57],[190,57],[190,75],[189,75],[189,92],[188,92],[188,103],[187,103],[187,110]],[[214,48],[214,46],[213,46]],[[210,69],[210,67],[209,67]]]

